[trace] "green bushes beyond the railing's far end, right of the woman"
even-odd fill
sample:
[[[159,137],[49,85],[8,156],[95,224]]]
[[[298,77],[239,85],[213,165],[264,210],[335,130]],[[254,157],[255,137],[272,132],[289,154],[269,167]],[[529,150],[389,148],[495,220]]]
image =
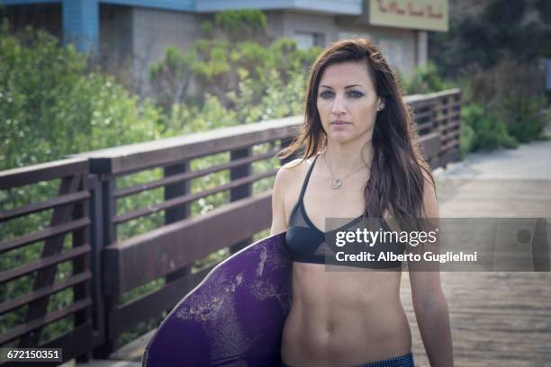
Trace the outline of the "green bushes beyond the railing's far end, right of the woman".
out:
[[[454,81],[438,76],[433,64],[402,76],[409,94],[425,94],[458,87],[462,94],[461,152],[517,148],[519,142],[538,139],[548,121],[546,98],[533,84],[537,73],[503,60],[491,70],[473,68]],[[509,92],[505,92],[509,91]]]

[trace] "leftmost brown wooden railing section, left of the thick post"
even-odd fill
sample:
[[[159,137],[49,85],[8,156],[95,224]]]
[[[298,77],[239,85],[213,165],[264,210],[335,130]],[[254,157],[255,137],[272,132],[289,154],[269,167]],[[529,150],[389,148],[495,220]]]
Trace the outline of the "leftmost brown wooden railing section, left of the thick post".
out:
[[[47,228],[39,227],[32,233],[18,237],[14,237],[14,233],[6,234],[5,230],[2,231],[0,254],[4,258],[0,273],[0,290],[3,293],[0,294],[0,319],[2,323],[8,323],[6,315],[17,310],[19,315],[15,313],[12,316],[18,317],[19,322],[12,322],[9,330],[2,327],[4,330],[0,336],[0,345],[13,345],[17,339],[20,347],[62,345],[63,352],[68,356],[86,354],[88,345],[93,345],[90,255],[98,249],[93,248],[90,239],[88,172],[87,159],[75,158],[0,173],[0,190],[39,181],[59,181],[57,197],[8,210],[3,207],[0,212],[0,222],[4,226],[10,220],[30,217],[43,210],[51,211]],[[42,244],[36,249],[41,253],[40,258],[5,269],[7,256],[13,255],[14,250],[35,243]],[[72,265],[71,273],[56,282],[58,266],[63,263]],[[18,284],[15,280],[25,277],[26,282],[32,284],[31,289],[26,294],[8,298],[10,285],[16,287]],[[72,290],[72,301],[62,308],[49,310],[50,298],[68,288]],[[63,318],[72,318],[71,331],[41,343],[42,328]]]

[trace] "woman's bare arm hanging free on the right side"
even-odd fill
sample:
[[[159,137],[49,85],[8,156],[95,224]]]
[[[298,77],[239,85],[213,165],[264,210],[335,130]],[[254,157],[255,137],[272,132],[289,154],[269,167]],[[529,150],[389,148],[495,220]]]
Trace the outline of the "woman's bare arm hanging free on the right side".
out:
[[[425,177],[423,206],[425,216],[429,219],[437,219],[435,224],[438,226],[438,201],[428,175]],[[415,265],[411,268],[414,269]],[[430,366],[453,366],[449,314],[447,300],[440,284],[440,273],[410,270],[410,283],[415,318],[429,356]]]

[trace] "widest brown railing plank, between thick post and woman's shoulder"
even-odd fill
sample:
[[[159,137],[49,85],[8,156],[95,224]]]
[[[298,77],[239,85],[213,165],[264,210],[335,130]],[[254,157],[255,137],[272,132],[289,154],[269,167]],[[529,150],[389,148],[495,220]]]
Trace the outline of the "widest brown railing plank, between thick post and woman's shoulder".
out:
[[[269,226],[270,207],[268,192],[105,247],[105,293],[129,291],[253,236]],[[140,264],[140,272],[134,264]]]

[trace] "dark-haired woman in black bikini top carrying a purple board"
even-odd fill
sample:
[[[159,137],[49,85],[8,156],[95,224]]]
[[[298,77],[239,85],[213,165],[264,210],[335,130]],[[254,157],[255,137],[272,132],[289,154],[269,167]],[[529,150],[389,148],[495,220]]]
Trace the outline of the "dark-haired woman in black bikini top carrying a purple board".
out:
[[[410,113],[374,44],[342,40],[316,59],[303,131],[280,157],[304,144],[303,158],[278,171],[272,199],[271,233],[287,231],[294,257],[283,365],[412,366],[401,268],[329,272],[316,254],[326,218],[438,218],[434,181],[416,148]],[[431,366],[453,365],[438,272],[410,272],[410,282]]]

